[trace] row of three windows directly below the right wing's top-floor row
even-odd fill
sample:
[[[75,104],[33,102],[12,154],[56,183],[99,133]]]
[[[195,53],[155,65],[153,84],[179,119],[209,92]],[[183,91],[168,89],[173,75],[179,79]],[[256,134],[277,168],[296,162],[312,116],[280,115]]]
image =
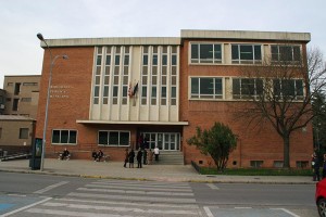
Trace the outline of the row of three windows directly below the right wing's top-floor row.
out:
[[[253,99],[266,93],[264,88],[269,86],[273,95],[276,98],[287,98],[288,100],[303,99],[302,79],[272,79],[262,78],[233,78],[233,99]],[[266,90],[266,89],[265,89]],[[190,99],[225,99],[225,78],[222,77],[191,77]],[[271,92],[271,91],[268,91]]]

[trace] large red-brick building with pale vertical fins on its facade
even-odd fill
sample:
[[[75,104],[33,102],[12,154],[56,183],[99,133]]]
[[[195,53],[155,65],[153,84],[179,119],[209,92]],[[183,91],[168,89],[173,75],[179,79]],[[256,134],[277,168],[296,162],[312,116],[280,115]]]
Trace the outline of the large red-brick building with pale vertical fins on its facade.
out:
[[[178,152],[184,162],[211,159],[186,142],[196,127],[215,122],[238,135],[229,167],[278,167],[283,140],[266,125],[258,131],[234,118],[241,104],[240,67],[259,65],[291,41],[291,52],[305,54],[310,34],[181,30],[177,38],[49,39],[57,59],[50,87],[47,150],[67,146],[78,158],[93,149],[123,161],[139,138],[162,152]],[[36,137],[42,137],[50,54],[45,49]],[[299,51],[298,51],[299,49]],[[276,53],[277,54],[277,53]],[[239,85],[238,85],[239,86]],[[313,151],[312,127],[291,137],[291,167],[308,165]]]

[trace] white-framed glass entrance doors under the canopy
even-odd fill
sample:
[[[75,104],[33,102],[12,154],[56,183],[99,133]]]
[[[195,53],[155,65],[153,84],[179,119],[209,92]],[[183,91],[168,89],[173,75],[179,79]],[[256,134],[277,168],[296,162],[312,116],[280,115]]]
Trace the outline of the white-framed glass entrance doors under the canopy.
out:
[[[179,132],[141,132],[141,135],[148,140],[150,149],[154,149],[158,145],[160,150],[165,151],[180,150]]]

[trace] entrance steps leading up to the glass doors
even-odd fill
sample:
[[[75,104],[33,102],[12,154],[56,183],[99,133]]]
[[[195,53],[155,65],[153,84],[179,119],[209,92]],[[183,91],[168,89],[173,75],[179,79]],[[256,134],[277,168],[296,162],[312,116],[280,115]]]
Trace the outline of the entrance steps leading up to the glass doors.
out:
[[[154,164],[161,165],[184,165],[184,153],[180,151],[160,151],[159,162],[154,161]]]

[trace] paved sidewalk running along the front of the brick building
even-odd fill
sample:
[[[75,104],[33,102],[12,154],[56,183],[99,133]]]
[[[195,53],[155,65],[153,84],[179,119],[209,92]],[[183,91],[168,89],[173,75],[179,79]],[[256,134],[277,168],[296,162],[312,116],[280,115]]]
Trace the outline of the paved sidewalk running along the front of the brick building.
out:
[[[135,164],[137,167],[137,164]],[[199,175],[191,165],[145,165],[124,168],[123,162],[59,161],[46,158],[43,170],[32,170],[29,159],[0,162],[0,171],[76,176],[85,178],[133,179],[153,181],[220,183],[291,183],[314,184],[312,177],[298,176],[208,176]]]

